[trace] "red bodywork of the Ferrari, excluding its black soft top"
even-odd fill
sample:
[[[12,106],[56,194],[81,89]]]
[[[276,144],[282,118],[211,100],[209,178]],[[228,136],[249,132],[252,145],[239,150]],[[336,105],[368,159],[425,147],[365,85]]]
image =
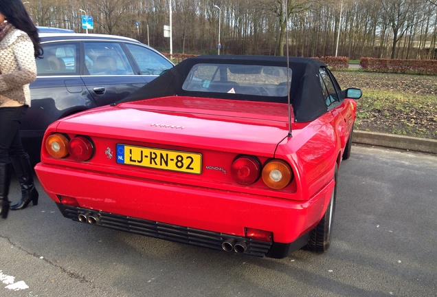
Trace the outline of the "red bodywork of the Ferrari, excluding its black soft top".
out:
[[[225,59],[215,62],[229,63]],[[198,58],[190,67],[205,61],[214,62]],[[49,126],[35,170],[63,215],[255,256],[281,258],[304,245],[324,252],[330,243],[336,171],[345,150],[350,153],[355,101],[341,98],[313,120],[298,122],[293,108],[289,118],[289,104],[251,100],[250,95],[248,100],[183,92],[146,96],[147,88],[156,91],[156,80],[137,95],[151,98],[124,100]],[[66,144],[69,153],[54,157],[54,142],[47,142],[51,135],[89,146]],[[76,159],[87,147],[89,159]],[[285,162],[290,181],[270,188],[259,173],[250,184],[238,184],[235,174],[254,171],[243,166],[235,173],[234,162],[246,156],[260,168],[271,160]]]

